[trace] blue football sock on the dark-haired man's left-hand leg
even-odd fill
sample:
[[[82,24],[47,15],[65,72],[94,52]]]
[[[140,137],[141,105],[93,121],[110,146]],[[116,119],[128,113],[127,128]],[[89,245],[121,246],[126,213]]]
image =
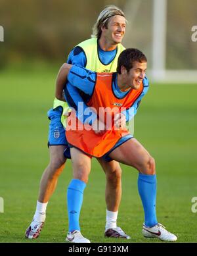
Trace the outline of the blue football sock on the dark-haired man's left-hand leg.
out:
[[[68,205],[68,231],[79,230],[79,215],[83,203],[83,190],[85,182],[82,180],[72,180],[67,190],[67,205]]]

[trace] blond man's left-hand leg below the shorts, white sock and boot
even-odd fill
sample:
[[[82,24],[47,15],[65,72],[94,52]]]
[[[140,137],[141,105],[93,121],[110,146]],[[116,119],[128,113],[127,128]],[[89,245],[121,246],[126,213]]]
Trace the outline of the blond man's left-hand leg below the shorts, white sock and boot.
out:
[[[43,172],[39,187],[39,198],[36,205],[33,221],[26,230],[26,238],[37,238],[46,218],[48,201],[55,191],[58,176],[62,172],[66,158],[64,157],[64,145],[53,145],[49,147],[50,163]]]

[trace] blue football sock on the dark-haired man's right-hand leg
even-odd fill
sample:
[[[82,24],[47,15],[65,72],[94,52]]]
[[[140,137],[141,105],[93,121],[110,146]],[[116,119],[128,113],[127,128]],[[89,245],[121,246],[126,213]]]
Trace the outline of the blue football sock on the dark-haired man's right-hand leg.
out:
[[[156,217],[156,174],[139,173],[138,191],[144,208],[145,226],[152,227],[158,223]]]

